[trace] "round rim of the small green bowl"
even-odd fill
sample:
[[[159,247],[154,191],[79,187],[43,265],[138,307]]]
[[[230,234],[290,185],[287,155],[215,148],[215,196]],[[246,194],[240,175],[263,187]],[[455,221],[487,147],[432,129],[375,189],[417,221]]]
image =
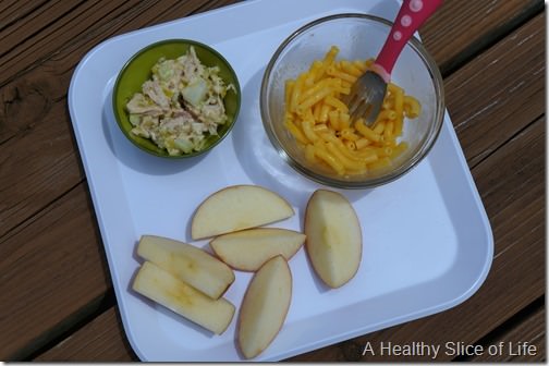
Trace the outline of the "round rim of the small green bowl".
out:
[[[208,148],[203,149],[200,151],[194,151],[194,152],[183,154],[183,155],[168,155],[168,154],[163,155],[163,154],[159,154],[157,151],[150,150],[150,149],[142,146],[141,144],[138,144],[136,141],[134,141],[132,138],[132,136],[130,135],[130,132],[127,132],[127,131],[125,131],[123,129],[123,126],[121,124],[121,121],[120,121],[120,113],[119,113],[118,108],[117,108],[117,95],[118,95],[117,90],[119,89],[122,76],[127,71],[127,68],[130,66],[130,64],[132,64],[143,53],[149,51],[152,48],[156,48],[156,47],[159,47],[159,46],[163,46],[163,45],[167,45],[167,44],[190,45],[190,46],[196,46],[196,47],[206,49],[207,51],[211,52],[219,61],[221,61],[222,63],[225,64],[225,66],[228,68],[229,72],[233,75],[233,78],[234,78],[233,85],[234,85],[235,94],[236,94],[236,109],[234,111],[234,118],[230,121],[230,124],[229,124],[229,127],[227,129],[227,131],[222,135],[219,135],[219,138],[216,139],[211,145],[209,145]],[[115,80],[114,85],[112,87],[112,99],[111,99],[111,107],[112,107],[112,110],[113,110],[113,113],[114,113],[114,120],[117,121],[117,124],[120,127],[120,130],[122,131],[122,133],[124,134],[124,136],[133,145],[137,146],[141,150],[143,150],[143,151],[145,151],[147,154],[154,155],[154,156],[159,157],[159,158],[173,159],[173,160],[194,158],[194,157],[200,156],[203,154],[206,154],[208,151],[211,151],[213,149],[213,147],[216,147],[218,144],[220,144],[221,141],[223,141],[229,135],[229,133],[231,132],[231,130],[234,127],[234,124],[236,123],[236,121],[239,119],[239,113],[240,113],[241,105],[242,105],[242,91],[241,91],[239,75],[236,74],[236,72],[232,68],[231,63],[219,51],[217,51],[211,46],[208,46],[208,45],[203,44],[203,42],[197,41],[197,40],[187,39],[187,38],[169,38],[169,39],[158,40],[158,41],[155,41],[152,44],[149,44],[149,45],[141,48],[138,51],[136,51],[134,54],[132,54],[124,62],[124,64],[122,65],[122,68],[120,69],[120,71],[117,74],[117,80]]]

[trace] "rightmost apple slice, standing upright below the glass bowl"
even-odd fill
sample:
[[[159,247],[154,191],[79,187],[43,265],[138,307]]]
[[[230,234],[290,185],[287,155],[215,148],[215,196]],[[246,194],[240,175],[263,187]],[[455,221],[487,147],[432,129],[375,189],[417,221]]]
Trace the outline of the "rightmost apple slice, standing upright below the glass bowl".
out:
[[[305,211],[305,249],[318,277],[330,288],[349,282],[362,259],[362,232],[351,203],[341,194],[316,191]]]

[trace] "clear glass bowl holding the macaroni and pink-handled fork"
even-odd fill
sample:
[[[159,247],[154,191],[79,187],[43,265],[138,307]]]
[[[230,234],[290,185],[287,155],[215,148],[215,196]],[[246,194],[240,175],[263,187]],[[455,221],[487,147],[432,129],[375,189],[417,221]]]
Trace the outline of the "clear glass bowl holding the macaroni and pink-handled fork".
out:
[[[261,83],[260,111],[269,139],[279,155],[297,172],[310,180],[338,188],[367,188],[391,182],[427,155],[437,139],[444,115],[442,77],[434,59],[413,38],[404,47],[393,72],[392,82],[422,105],[419,118],[404,121],[399,141],[408,148],[388,169],[361,175],[338,175],[322,164],[312,164],[304,149],[283,125],[284,84],[321,60],[331,46],[340,49],[339,59],[371,59],[383,46],[392,23],[365,14],[338,14],[316,20],[288,37],[272,56]]]

